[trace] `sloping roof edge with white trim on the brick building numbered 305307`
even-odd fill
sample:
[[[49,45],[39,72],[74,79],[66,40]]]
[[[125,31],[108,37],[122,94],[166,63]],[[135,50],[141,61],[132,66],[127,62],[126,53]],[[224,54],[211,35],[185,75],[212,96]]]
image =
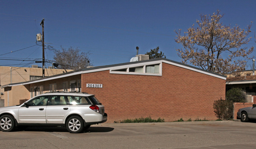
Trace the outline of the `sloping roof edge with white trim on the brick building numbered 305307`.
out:
[[[104,66],[96,66],[96,67],[90,67],[90,68],[85,68],[85,69],[79,69],[79,70],[74,70],[74,71],[70,71],[70,72],[62,73],[62,74],[58,74],[58,75],[46,76],[44,78],[39,78],[39,79],[36,79],[36,80],[30,80],[30,81],[26,81],[26,82],[19,82],[19,83],[2,85],[1,88],[11,87],[11,86],[16,86],[16,85],[32,84],[32,83],[36,83],[36,82],[43,82],[43,81],[53,80],[53,79],[57,79],[57,78],[63,78],[63,77],[67,77],[67,76],[80,75],[80,74],[83,74],[83,73],[93,73],[93,72],[97,72],[97,71],[111,70],[114,67],[124,66],[124,65],[134,65],[134,64],[146,64],[147,65],[147,64],[150,64],[152,62],[154,62],[154,63],[164,62],[164,63],[167,63],[167,64],[176,65],[178,67],[189,69],[191,71],[197,71],[199,73],[203,73],[203,74],[206,74],[206,75],[210,75],[210,76],[214,76],[214,77],[226,80],[226,76],[224,76],[224,75],[219,75],[217,73],[206,71],[206,70],[203,70],[203,69],[200,69],[200,68],[197,68],[197,67],[186,65],[186,64],[176,62],[176,61],[173,61],[173,60],[169,60],[169,59],[166,59],[166,58],[158,58],[158,59],[143,60],[143,61],[137,61],[137,62],[127,62],[127,63],[121,63],[121,64],[104,65]]]

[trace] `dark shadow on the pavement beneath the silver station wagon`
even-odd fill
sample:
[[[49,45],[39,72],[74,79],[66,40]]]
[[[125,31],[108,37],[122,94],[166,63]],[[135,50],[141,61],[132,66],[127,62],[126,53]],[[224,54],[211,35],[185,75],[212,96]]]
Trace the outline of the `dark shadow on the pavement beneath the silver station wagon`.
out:
[[[84,130],[82,133],[108,133],[113,131],[114,128],[111,127],[90,127]],[[61,126],[22,126],[17,127],[14,131],[38,131],[38,132],[67,132],[66,127]]]

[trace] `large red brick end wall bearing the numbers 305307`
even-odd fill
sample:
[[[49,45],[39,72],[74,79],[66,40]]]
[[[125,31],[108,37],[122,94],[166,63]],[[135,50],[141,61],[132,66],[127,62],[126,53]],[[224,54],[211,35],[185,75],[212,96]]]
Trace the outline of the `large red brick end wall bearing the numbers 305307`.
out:
[[[82,91],[95,94],[105,105],[108,122],[151,116],[165,122],[180,118],[216,120],[214,100],[225,99],[225,80],[170,64],[162,64],[162,76],[82,74]],[[86,84],[103,88],[86,88]]]

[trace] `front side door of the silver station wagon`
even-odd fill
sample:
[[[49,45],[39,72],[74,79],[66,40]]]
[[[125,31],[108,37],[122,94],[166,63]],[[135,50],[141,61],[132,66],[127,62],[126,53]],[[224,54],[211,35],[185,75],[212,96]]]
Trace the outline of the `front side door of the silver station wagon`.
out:
[[[46,103],[49,96],[38,96],[19,108],[19,123],[46,124]]]

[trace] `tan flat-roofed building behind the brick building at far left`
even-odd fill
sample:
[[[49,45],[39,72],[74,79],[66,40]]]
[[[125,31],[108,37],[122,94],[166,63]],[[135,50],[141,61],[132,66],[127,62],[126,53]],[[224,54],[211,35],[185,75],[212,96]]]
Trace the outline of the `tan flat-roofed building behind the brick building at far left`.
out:
[[[45,69],[45,76],[58,75],[62,73],[67,73],[73,70],[66,69],[53,69],[53,67],[48,67]],[[0,85],[13,84],[19,82],[26,82],[30,80],[35,80],[43,77],[43,70],[37,65],[32,65],[32,67],[9,67],[0,66]],[[0,107],[8,106],[4,103],[4,89],[0,88]],[[19,93],[20,94],[20,93]]]

